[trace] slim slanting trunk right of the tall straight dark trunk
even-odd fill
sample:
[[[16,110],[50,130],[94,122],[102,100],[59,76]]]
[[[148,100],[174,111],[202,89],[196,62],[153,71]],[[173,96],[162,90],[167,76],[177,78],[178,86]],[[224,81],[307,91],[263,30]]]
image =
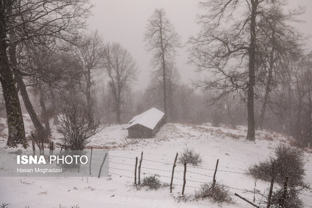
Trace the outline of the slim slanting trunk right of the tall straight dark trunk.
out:
[[[269,99],[269,95],[271,93],[271,85],[272,85],[272,72],[273,72],[273,65],[274,65],[274,31],[272,32],[272,50],[270,53],[270,67],[269,67],[269,75],[268,75],[268,80],[266,83],[266,92],[264,94],[264,99],[263,99],[263,104],[261,107],[261,114],[260,114],[260,121],[259,121],[259,128],[261,131],[263,131],[263,120],[264,120],[264,115],[266,113],[266,104]]]

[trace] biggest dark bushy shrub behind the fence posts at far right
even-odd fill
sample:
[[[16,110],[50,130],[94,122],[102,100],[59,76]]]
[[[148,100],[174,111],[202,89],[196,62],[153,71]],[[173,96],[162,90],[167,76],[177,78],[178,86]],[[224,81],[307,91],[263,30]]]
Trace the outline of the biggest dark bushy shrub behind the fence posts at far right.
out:
[[[248,167],[247,173],[255,178],[270,181],[273,161],[275,161],[275,181],[282,184],[285,180],[284,177],[288,176],[290,179],[290,186],[308,187],[308,184],[304,182],[305,163],[307,162],[304,151],[300,148],[291,147],[285,144],[280,144],[275,147],[275,157],[269,156],[265,161],[251,165]]]

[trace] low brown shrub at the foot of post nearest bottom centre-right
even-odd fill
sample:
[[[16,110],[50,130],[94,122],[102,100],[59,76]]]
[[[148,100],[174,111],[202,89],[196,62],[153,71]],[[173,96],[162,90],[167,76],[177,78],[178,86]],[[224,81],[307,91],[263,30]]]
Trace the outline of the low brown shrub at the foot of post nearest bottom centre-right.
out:
[[[233,193],[230,191],[230,187],[222,182],[216,182],[213,187],[213,183],[202,183],[200,189],[195,191],[196,197],[199,199],[210,198],[211,201],[221,206],[223,202],[228,204],[234,204]]]

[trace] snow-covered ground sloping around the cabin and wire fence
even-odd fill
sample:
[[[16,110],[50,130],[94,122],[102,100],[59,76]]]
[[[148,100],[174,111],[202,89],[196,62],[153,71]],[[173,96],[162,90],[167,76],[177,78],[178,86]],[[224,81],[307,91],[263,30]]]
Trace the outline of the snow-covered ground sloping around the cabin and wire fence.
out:
[[[24,118],[27,134],[32,125],[29,117]],[[3,120],[2,120],[3,121]],[[52,124],[51,124],[52,125]],[[282,134],[256,131],[256,142],[245,140],[246,127],[237,129],[217,128],[209,124],[183,125],[167,123],[155,138],[144,139],[136,144],[125,145],[122,140],[128,135],[124,128],[127,125],[108,126],[96,134],[90,146],[96,149],[110,150],[110,174],[108,177],[0,177],[0,205],[10,204],[16,207],[219,207],[209,200],[177,203],[170,196],[169,188],[157,191],[137,190],[134,182],[135,157],[143,151],[141,178],[149,174],[160,175],[160,180],[170,183],[172,163],[176,153],[183,148],[194,148],[201,152],[204,162],[200,168],[187,167],[185,193],[194,193],[194,187],[200,182],[212,181],[213,169],[217,159],[219,165],[216,179],[232,187],[231,191],[252,199],[255,179],[241,174],[245,169],[267,158],[273,153],[274,145],[288,143],[290,138]],[[59,142],[60,135],[52,126],[54,143]],[[270,138],[270,139],[268,139]],[[122,140],[121,140],[122,139]],[[129,139],[127,139],[129,141]],[[125,141],[125,140],[124,140]],[[0,148],[6,143],[6,135],[0,138]],[[48,147],[46,147],[48,148]],[[307,157],[311,152],[306,151]],[[117,156],[117,157],[116,157]],[[156,161],[156,162],[153,162]],[[122,163],[122,164],[120,164]],[[169,163],[169,164],[167,164]],[[175,168],[173,195],[182,191],[184,167]],[[149,169],[152,168],[152,169]],[[120,170],[122,169],[122,170]],[[211,170],[207,170],[211,169]],[[312,183],[312,162],[306,165],[306,181]],[[189,187],[192,186],[192,187]],[[269,187],[269,182],[256,181],[256,189],[261,193]],[[248,190],[248,191],[243,191]],[[312,192],[305,192],[312,195]],[[257,197],[257,196],[256,196]],[[259,195],[259,197],[261,197]],[[312,197],[303,196],[306,205],[312,206]],[[251,207],[247,202],[238,199],[236,204],[222,204],[223,207]]]

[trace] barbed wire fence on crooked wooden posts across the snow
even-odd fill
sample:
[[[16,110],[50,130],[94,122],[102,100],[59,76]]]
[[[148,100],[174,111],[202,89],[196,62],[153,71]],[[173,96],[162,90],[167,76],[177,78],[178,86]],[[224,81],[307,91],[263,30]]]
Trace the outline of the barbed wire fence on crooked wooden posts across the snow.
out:
[[[96,153],[93,153],[93,154],[95,154],[95,155],[100,155],[101,156],[101,154],[96,154]],[[143,152],[142,152],[142,156],[143,156]],[[133,160],[133,161],[135,161],[137,158],[134,158],[134,157],[121,157],[121,156],[116,156],[116,155],[109,155],[109,158],[110,157],[112,157],[112,158],[123,158],[123,159],[129,159],[129,160]],[[151,168],[151,167],[144,167],[144,166],[140,166],[139,167],[139,169],[140,168],[142,168],[142,169],[146,169],[146,170],[154,170],[154,171],[159,171],[159,172],[172,172],[172,176],[167,176],[167,175],[165,175],[165,174],[159,174],[159,172],[158,173],[154,173],[154,174],[152,174],[152,173],[148,173],[148,172],[142,172],[142,171],[139,171],[139,174],[140,173],[142,173],[143,175],[151,175],[151,176],[155,176],[155,175],[157,175],[158,177],[164,177],[164,178],[171,178],[172,180],[173,179],[175,179],[175,180],[180,180],[180,181],[190,181],[190,182],[195,182],[195,183],[200,183],[200,184],[202,184],[202,183],[204,183],[204,181],[196,181],[196,180],[190,180],[190,179],[186,179],[186,177],[185,177],[185,173],[184,173],[184,177],[183,178],[178,178],[178,177],[174,177],[173,175],[174,175],[174,173],[175,172],[188,172],[188,173],[191,173],[191,174],[193,174],[193,175],[201,175],[201,176],[204,176],[204,177],[207,177],[207,178],[209,178],[209,179],[212,179],[212,183],[214,184],[215,182],[216,182],[216,172],[224,172],[224,173],[230,173],[230,174],[232,174],[232,173],[236,173],[236,174],[242,174],[242,175],[250,175],[250,174],[248,174],[248,173],[246,173],[246,172],[236,172],[236,171],[227,171],[227,170],[218,170],[217,169],[217,166],[216,166],[216,168],[215,169],[210,169],[210,168],[203,168],[203,167],[194,167],[194,166],[187,166],[187,165],[180,165],[180,164],[173,164],[173,163],[168,163],[168,162],[161,162],[161,161],[155,161],[155,160],[149,160],[149,159],[143,159],[142,157],[141,157],[141,159],[142,159],[142,161],[148,161],[148,162],[156,162],[156,163],[161,163],[161,164],[166,164],[166,165],[172,165],[172,166],[181,166],[181,167],[185,167],[185,170],[184,171],[182,171],[182,170],[174,170],[174,168],[173,168],[173,170],[164,170],[164,169],[159,169],[159,168]],[[97,160],[97,161],[102,161],[102,160],[99,160],[99,159],[93,159],[93,160]],[[105,167],[105,168],[109,168],[109,169],[114,169],[114,170],[121,170],[121,171],[123,171],[123,172],[131,172],[132,173],[132,176],[129,176],[129,175],[125,175],[125,174],[119,174],[119,173],[115,173],[115,172],[110,172],[110,171],[105,171],[105,170],[102,170],[102,172],[106,172],[106,173],[108,173],[108,174],[113,174],[113,175],[117,175],[117,176],[120,176],[120,177],[127,177],[127,178],[132,178],[132,179],[135,179],[135,181],[136,181],[136,170],[137,170],[137,166],[136,166],[136,164],[134,165],[134,164],[129,164],[129,163],[124,163],[124,162],[114,162],[114,161],[109,161],[109,163],[114,163],[114,164],[119,164],[119,165],[124,165],[124,166],[126,166],[126,167],[129,167],[129,169],[130,169],[130,167],[132,167],[132,169],[131,170],[129,170],[129,169],[124,169],[124,168],[116,168],[116,167],[105,167],[105,166],[103,166],[103,167]],[[97,167],[99,167],[99,166],[101,166],[101,165],[97,165],[97,164],[91,164],[92,166],[97,166]],[[100,171],[101,170],[101,168],[100,169],[97,169],[97,168],[91,168],[91,166],[90,166],[90,169],[92,169],[92,170],[94,170],[94,171]],[[192,171],[190,171],[189,169],[191,169]],[[211,175],[207,175],[207,174],[202,174],[202,173],[199,173],[199,172],[196,172],[196,171],[193,171],[193,169],[201,169],[201,170],[207,170],[207,171],[215,171],[215,174],[214,174],[214,176],[211,176]],[[100,174],[99,174],[100,175]],[[192,177],[192,175],[190,176],[190,175],[188,175],[188,178],[191,178]],[[140,177],[139,177],[140,178]],[[139,181],[139,183],[140,183],[140,181]],[[307,184],[312,184],[312,183],[308,183],[308,182],[306,182]],[[135,184],[135,183],[134,183]],[[190,188],[195,188],[195,189],[200,189],[201,187],[200,186],[188,186],[188,185],[186,185],[185,183],[183,183],[183,185],[181,185],[181,184],[178,184],[177,182],[175,182],[174,184],[171,184],[171,186],[183,186],[183,192],[184,192],[184,187],[190,187]],[[255,189],[251,189],[251,190],[253,190],[253,191],[251,191],[251,190],[248,190],[248,189],[240,189],[240,188],[235,188],[235,187],[232,187],[232,186],[227,186],[229,189],[232,189],[232,190],[239,190],[239,191],[244,191],[245,193],[246,192],[251,192],[251,193],[254,193],[255,192]],[[301,194],[301,195],[304,195],[304,196],[309,196],[309,197],[312,197],[312,195],[308,195],[308,194]],[[237,194],[236,194],[236,196],[237,196]],[[241,196],[239,196],[240,198],[243,198],[243,197],[241,197]],[[248,199],[248,198],[245,198],[245,199]],[[248,200],[253,200],[253,199],[248,199]],[[253,205],[253,206],[256,206],[256,205]],[[306,205],[306,204],[304,204],[304,206],[306,206],[306,207],[312,207],[312,206],[310,206],[310,205]],[[258,207],[258,206],[256,206],[256,207]]]

